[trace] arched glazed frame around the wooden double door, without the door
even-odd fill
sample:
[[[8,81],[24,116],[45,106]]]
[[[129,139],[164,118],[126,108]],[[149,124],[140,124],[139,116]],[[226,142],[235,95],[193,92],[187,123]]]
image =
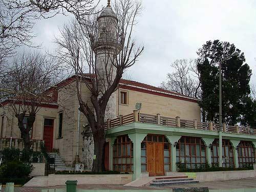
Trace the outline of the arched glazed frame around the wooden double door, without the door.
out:
[[[162,143],[164,172],[170,172],[170,143],[164,135],[147,135],[141,142],[141,172],[148,172],[147,167],[147,143]],[[156,149],[158,150],[158,149]]]

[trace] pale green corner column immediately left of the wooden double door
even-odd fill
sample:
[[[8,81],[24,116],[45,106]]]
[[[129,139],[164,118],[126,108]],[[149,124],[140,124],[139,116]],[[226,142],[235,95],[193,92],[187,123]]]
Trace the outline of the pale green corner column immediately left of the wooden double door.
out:
[[[133,141],[133,181],[141,176],[141,141],[146,135],[144,133],[128,134]]]

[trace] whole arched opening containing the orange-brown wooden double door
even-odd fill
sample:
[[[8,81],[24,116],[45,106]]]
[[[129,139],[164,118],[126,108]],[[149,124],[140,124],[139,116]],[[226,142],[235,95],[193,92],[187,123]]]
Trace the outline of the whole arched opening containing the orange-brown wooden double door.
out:
[[[141,172],[150,176],[171,170],[170,143],[164,135],[147,135],[141,142]]]

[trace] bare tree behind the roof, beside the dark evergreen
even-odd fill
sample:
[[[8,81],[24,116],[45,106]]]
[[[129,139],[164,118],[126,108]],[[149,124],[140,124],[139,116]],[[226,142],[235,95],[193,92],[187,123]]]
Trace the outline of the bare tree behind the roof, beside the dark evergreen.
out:
[[[200,74],[196,65],[195,59],[177,59],[170,65],[173,72],[167,74],[167,81],[161,83],[161,88],[198,98]]]

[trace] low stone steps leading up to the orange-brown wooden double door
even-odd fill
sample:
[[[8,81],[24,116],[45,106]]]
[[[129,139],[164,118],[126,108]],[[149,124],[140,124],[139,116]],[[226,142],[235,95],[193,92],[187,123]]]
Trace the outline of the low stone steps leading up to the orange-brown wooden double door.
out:
[[[198,180],[193,178],[188,178],[188,176],[165,176],[157,177],[150,183],[151,186],[165,186],[165,185],[179,185],[179,184],[189,184],[189,183],[199,183]]]

